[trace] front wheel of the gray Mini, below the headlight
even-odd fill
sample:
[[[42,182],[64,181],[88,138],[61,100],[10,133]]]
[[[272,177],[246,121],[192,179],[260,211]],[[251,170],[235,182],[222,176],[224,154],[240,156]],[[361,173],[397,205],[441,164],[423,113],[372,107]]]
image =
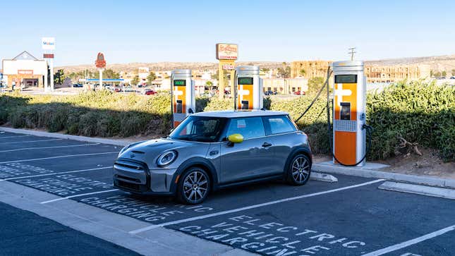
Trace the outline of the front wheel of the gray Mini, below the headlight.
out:
[[[200,167],[191,167],[178,179],[177,199],[186,205],[198,205],[210,193],[210,178]]]

